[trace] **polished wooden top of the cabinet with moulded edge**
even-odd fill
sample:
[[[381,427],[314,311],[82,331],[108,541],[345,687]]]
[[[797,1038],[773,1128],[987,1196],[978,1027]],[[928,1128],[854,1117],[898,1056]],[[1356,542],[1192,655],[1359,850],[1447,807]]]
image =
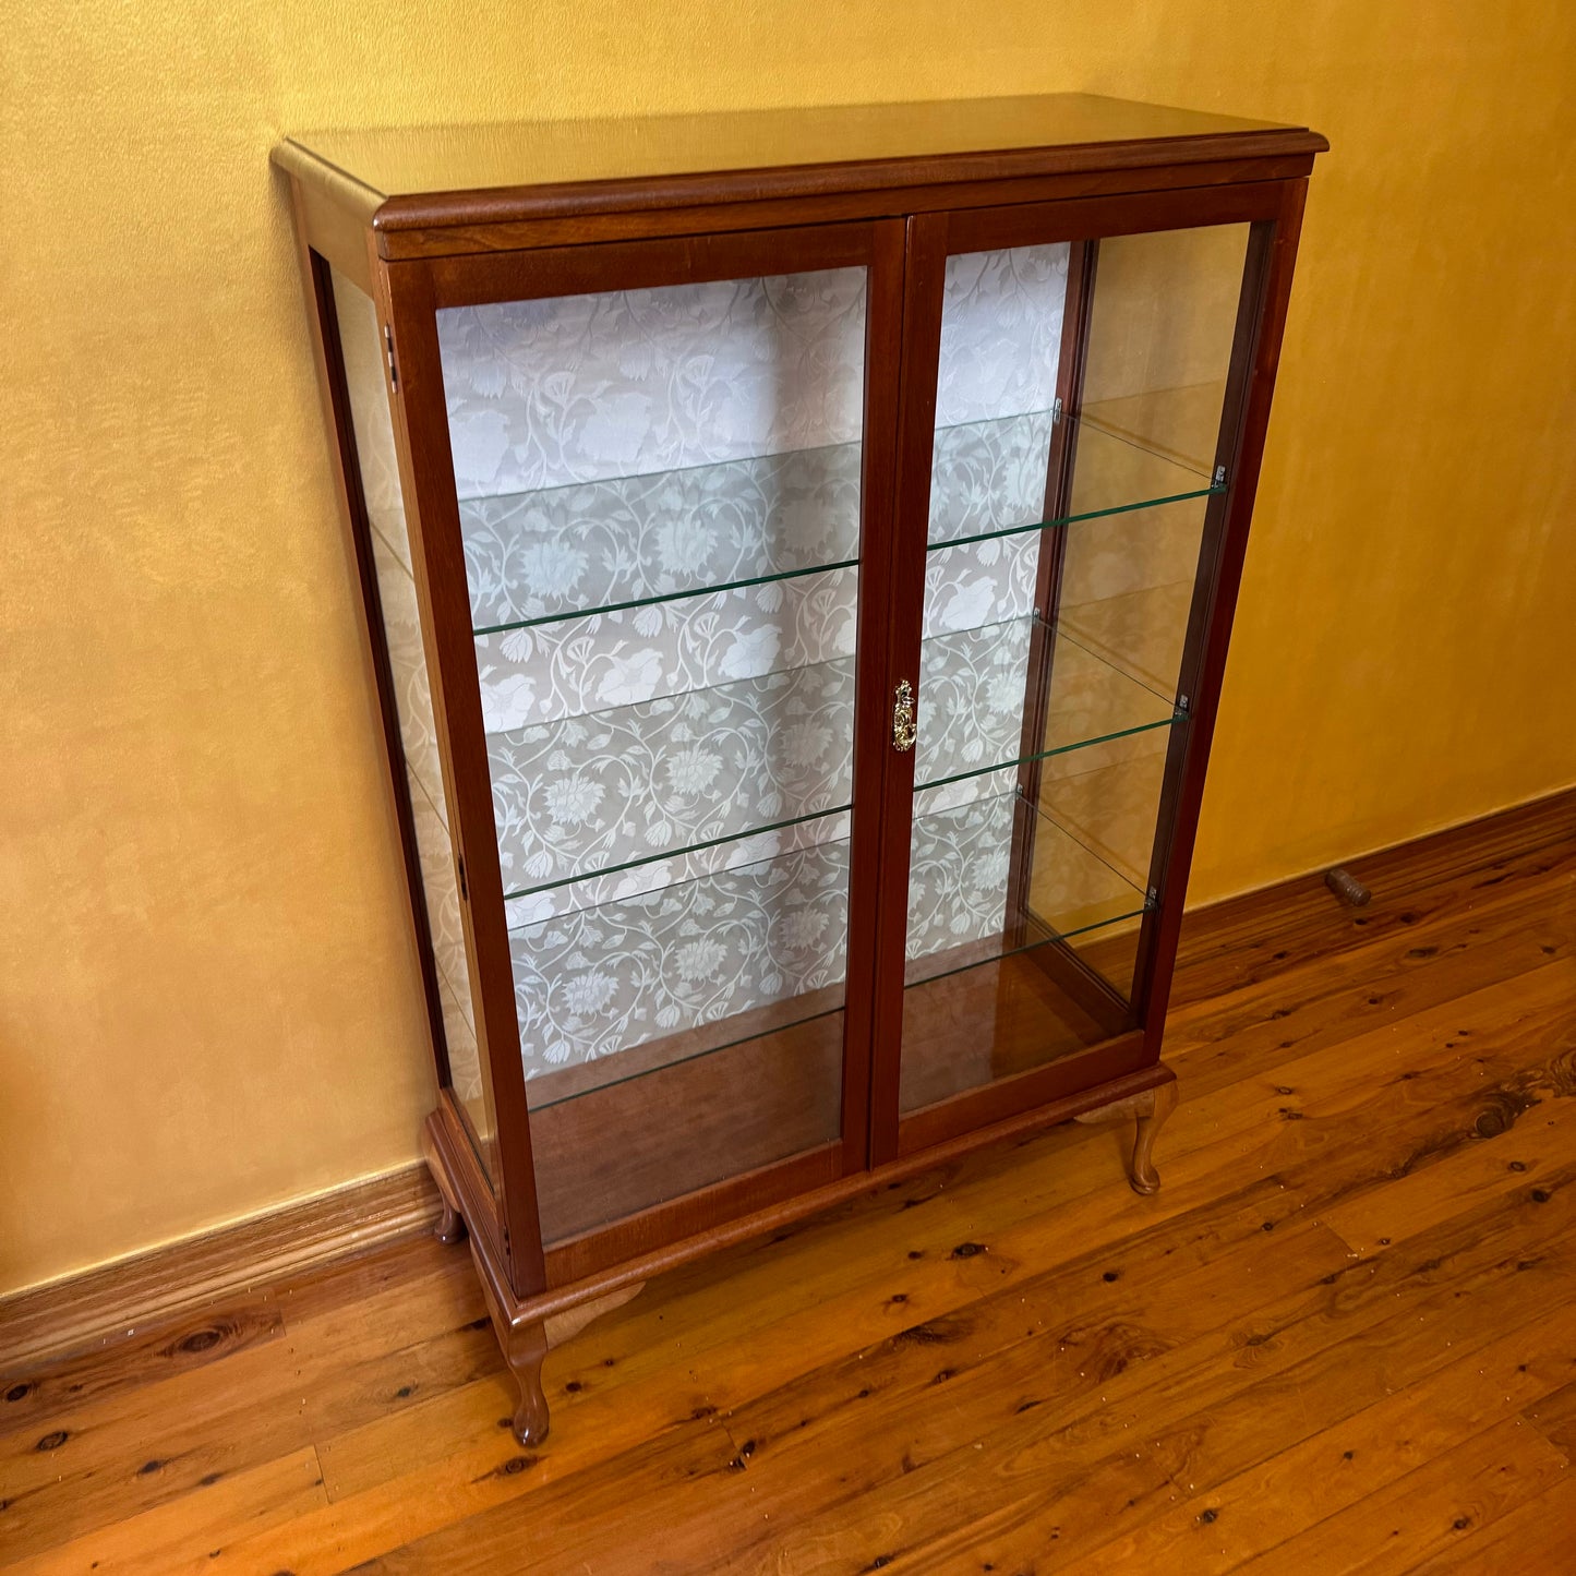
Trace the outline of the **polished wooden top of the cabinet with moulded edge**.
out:
[[[1010,173],[1037,173],[1196,162],[1278,148],[1316,153],[1324,147],[1322,137],[1300,126],[1059,93],[312,131],[288,137],[274,159],[383,229],[482,217],[462,211],[460,203],[479,192],[567,194],[709,177],[719,189],[708,197],[749,197],[775,194],[786,172],[794,172],[797,191],[846,191],[982,173],[980,161],[991,156],[1012,156]],[[764,180],[768,175],[775,180]],[[440,199],[455,211],[444,211]]]

